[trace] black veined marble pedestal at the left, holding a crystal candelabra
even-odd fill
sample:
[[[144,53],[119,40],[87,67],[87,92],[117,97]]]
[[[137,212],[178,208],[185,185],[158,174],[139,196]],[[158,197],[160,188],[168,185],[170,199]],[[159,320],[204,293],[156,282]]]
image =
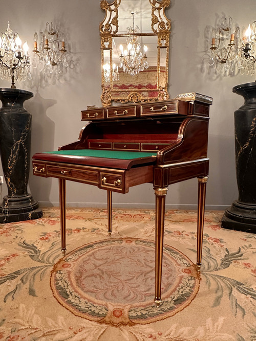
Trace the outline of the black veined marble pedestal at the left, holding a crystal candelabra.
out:
[[[31,114],[23,103],[33,93],[0,88],[0,153],[8,195],[0,204],[0,223],[42,217],[38,202],[28,193]]]

